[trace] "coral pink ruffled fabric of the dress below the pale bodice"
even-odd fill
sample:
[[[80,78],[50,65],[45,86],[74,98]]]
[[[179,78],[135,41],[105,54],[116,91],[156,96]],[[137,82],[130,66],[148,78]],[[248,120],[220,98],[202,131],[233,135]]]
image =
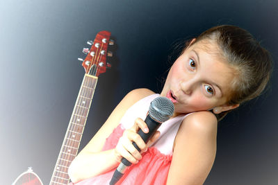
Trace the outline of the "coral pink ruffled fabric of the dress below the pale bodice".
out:
[[[104,148],[102,150],[115,148],[123,132],[124,128],[122,125],[118,125],[113,130],[112,134],[106,139],[106,143],[104,144]],[[116,185],[166,184],[171,161],[172,155],[164,155],[154,147],[148,148],[146,152],[142,153],[142,159],[138,162],[138,164],[132,164],[129,166]],[[109,184],[115,169],[97,177],[85,179],[83,182],[79,182],[78,185]]]

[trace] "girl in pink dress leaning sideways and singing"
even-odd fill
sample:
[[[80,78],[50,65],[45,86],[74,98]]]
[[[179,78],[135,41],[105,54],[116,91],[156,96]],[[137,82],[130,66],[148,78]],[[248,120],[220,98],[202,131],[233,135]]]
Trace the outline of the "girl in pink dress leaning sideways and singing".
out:
[[[108,184],[124,157],[133,165],[117,184],[203,184],[215,159],[218,121],[259,96],[271,71],[270,54],[246,30],[206,30],[186,44],[161,94],[135,89],[123,98],[72,161],[72,182]],[[148,132],[143,120],[158,96],[172,100],[174,114],[144,143],[136,132]]]

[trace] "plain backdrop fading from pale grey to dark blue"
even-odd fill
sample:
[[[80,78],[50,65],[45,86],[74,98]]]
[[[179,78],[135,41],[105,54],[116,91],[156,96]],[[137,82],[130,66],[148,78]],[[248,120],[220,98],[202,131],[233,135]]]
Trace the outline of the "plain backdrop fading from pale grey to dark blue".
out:
[[[100,30],[111,31],[116,53],[99,77],[80,149],[131,89],[161,91],[180,38],[234,24],[277,61],[277,8],[276,0],[0,0],[0,184],[28,166],[49,184],[84,74],[77,58]],[[270,91],[224,118],[206,185],[278,184],[277,80],[276,65]]]

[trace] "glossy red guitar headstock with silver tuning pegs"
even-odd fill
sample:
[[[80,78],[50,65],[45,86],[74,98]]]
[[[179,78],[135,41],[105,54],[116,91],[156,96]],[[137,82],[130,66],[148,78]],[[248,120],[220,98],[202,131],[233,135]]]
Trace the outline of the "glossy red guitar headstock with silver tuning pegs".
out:
[[[79,58],[79,60],[83,61],[82,66],[85,69],[85,73],[92,76],[99,76],[99,74],[106,72],[106,68],[111,67],[111,64],[106,62],[106,56],[112,56],[112,53],[107,50],[108,45],[114,44],[110,36],[110,32],[103,30],[97,33],[94,42],[87,42],[91,47],[90,49],[83,49],[83,53],[86,54],[84,60]]]

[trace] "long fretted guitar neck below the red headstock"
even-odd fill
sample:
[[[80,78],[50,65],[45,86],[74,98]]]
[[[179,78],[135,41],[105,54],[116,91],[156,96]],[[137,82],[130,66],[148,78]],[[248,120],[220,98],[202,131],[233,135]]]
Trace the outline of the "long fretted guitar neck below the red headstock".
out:
[[[67,170],[77,155],[96,85],[97,77],[85,74],[50,185],[69,183]]]

